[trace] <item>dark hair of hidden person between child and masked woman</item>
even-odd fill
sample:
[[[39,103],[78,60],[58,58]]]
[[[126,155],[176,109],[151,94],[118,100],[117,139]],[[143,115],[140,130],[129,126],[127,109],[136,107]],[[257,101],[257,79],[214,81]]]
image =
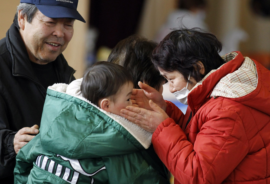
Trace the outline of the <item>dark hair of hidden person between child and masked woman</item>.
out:
[[[125,67],[132,75],[134,88],[140,89],[138,82],[145,82],[159,90],[166,79],[151,62],[151,54],[157,43],[139,35],[129,36],[116,44],[108,62]]]

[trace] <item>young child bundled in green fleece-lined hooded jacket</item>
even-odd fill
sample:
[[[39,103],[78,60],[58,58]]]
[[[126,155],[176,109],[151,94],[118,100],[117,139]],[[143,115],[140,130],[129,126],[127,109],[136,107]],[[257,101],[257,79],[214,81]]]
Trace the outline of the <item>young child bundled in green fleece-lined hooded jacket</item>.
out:
[[[169,183],[146,151],[152,135],[119,116],[132,89],[128,71],[106,61],[50,86],[40,133],[16,157],[14,183]]]

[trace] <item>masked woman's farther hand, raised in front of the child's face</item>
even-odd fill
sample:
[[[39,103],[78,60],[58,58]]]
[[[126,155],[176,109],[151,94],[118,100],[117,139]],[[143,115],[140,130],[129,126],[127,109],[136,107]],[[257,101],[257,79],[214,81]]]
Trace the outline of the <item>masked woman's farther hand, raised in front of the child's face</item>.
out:
[[[131,95],[133,106],[152,110],[152,108],[149,106],[149,100],[152,100],[160,108],[162,108],[163,111],[166,111],[167,103],[163,99],[162,94],[160,94],[156,89],[142,82],[138,82],[138,85],[141,89],[133,89]]]

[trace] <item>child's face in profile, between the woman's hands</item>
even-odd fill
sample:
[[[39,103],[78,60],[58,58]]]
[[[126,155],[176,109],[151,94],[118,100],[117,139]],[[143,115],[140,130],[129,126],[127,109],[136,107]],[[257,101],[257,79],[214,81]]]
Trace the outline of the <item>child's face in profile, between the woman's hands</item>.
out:
[[[114,113],[116,115],[120,115],[120,111],[126,106],[131,106],[132,102],[130,100],[131,93],[133,90],[133,83],[127,82],[125,83],[116,93],[114,102],[110,99],[110,105],[108,109],[104,109],[107,112]]]

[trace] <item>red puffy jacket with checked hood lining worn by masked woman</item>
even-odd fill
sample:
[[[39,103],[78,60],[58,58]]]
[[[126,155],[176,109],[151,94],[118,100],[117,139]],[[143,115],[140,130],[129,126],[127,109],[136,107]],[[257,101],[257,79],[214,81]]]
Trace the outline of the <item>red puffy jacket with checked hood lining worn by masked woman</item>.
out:
[[[187,127],[190,114],[167,102],[153,134],[175,184],[270,183],[270,71],[240,52],[223,57],[188,94]]]

